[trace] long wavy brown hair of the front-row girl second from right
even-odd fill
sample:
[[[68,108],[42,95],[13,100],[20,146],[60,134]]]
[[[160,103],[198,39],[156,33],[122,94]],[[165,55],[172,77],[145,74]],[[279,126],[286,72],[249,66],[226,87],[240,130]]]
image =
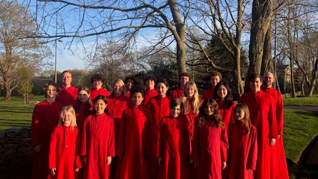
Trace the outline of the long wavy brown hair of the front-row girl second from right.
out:
[[[211,121],[206,121],[207,117],[204,112],[204,109],[207,105],[211,105],[214,109],[213,111],[213,118]],[[217,128],[223,128],[224,123],[221,120],[221,115],[218,109],[218,105],[214,99],[208,98],[203,101],[202,105],[199,108],[199,114],[196,118],[196,125],[198,127],[202,127],[205,123],[210,122],[211,126],[217,127]]]

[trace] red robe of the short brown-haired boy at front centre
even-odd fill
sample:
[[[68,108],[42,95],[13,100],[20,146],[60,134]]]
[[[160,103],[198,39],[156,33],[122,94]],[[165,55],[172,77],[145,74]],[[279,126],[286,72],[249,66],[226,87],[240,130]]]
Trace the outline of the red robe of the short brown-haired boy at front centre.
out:
[[[189,135],[185,121],[166,116],[159,123],[157,179],[190,179]]]

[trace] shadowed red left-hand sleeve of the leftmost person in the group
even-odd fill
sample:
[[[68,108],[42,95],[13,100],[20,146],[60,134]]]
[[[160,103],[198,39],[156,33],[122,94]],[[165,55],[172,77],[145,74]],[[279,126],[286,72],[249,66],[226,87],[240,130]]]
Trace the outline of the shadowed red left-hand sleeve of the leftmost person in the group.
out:
[[[31,144],[32,147],[40,145],[38,140],[39,105],[36,105],[32,114]]]

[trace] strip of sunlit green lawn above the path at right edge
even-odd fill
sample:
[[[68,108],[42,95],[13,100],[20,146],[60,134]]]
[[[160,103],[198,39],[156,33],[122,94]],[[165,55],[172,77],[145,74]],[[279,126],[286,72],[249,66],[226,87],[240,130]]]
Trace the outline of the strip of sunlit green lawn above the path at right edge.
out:
[[[318,95],[313,94],[312,97],[296,97],[283,98],[284,105],[293,106],[318,106]]]

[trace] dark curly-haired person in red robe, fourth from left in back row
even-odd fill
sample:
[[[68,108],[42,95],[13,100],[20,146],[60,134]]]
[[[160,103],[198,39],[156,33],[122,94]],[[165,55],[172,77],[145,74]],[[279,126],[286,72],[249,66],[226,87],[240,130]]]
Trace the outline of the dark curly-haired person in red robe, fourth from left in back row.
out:
[[[150,74],[146,75],[143,79],[143,85],[145,86],[144,98],[142,102],[143,106],[146,106],[148,104],[150,98],[158,95],[157,90],[154,89],[154,82],[155,77]]]

